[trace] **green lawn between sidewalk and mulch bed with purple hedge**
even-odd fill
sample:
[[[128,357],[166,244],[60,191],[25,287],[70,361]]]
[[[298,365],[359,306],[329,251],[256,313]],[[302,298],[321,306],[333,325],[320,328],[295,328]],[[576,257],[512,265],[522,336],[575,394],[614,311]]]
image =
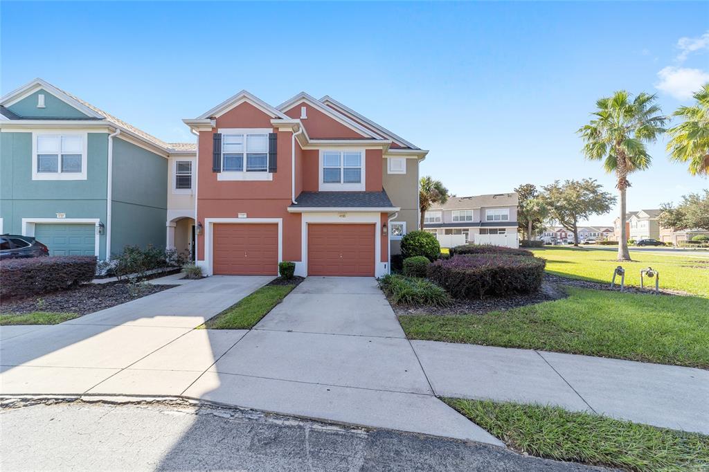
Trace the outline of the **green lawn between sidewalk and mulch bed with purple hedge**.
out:
[[[709,369],[709,298],[568,288],[569,298],[484,315],[401,315],[410,339]]]

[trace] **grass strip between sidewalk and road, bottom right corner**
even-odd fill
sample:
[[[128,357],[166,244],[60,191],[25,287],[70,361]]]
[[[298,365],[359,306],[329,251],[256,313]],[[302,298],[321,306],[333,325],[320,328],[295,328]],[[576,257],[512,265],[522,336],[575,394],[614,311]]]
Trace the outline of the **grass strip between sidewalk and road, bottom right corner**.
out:
[[[444,401],[513,449],[630,471],[709,470],[709,437],[562,408]]]

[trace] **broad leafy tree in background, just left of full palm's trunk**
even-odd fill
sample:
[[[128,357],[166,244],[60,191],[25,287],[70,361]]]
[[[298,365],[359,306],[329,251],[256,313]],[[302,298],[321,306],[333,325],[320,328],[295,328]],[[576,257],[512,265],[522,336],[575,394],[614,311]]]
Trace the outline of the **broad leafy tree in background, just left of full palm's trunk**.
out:
[[[557,180],[543,189],[541,198],[549,218],[574,233],[574,246],[579,245],[579,220],[608,213],[615,205],[615,197],[603,191],[595,179],[566,180],[563,184]]]

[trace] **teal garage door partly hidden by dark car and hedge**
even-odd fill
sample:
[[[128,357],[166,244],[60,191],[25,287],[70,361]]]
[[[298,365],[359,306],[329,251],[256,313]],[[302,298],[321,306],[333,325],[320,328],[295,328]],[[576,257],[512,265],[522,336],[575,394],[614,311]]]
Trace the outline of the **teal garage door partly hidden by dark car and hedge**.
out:
[[[35,223],[35,238],[49,248],[50,256],[96,255],[96,225]]]

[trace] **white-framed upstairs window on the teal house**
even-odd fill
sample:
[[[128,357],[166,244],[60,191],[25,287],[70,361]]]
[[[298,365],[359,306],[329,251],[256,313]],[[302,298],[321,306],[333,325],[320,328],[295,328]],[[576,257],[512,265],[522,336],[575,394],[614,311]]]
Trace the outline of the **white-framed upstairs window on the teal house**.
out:
[[[32,163],[33,180],[85,180],[86,134],[37,134]]]

